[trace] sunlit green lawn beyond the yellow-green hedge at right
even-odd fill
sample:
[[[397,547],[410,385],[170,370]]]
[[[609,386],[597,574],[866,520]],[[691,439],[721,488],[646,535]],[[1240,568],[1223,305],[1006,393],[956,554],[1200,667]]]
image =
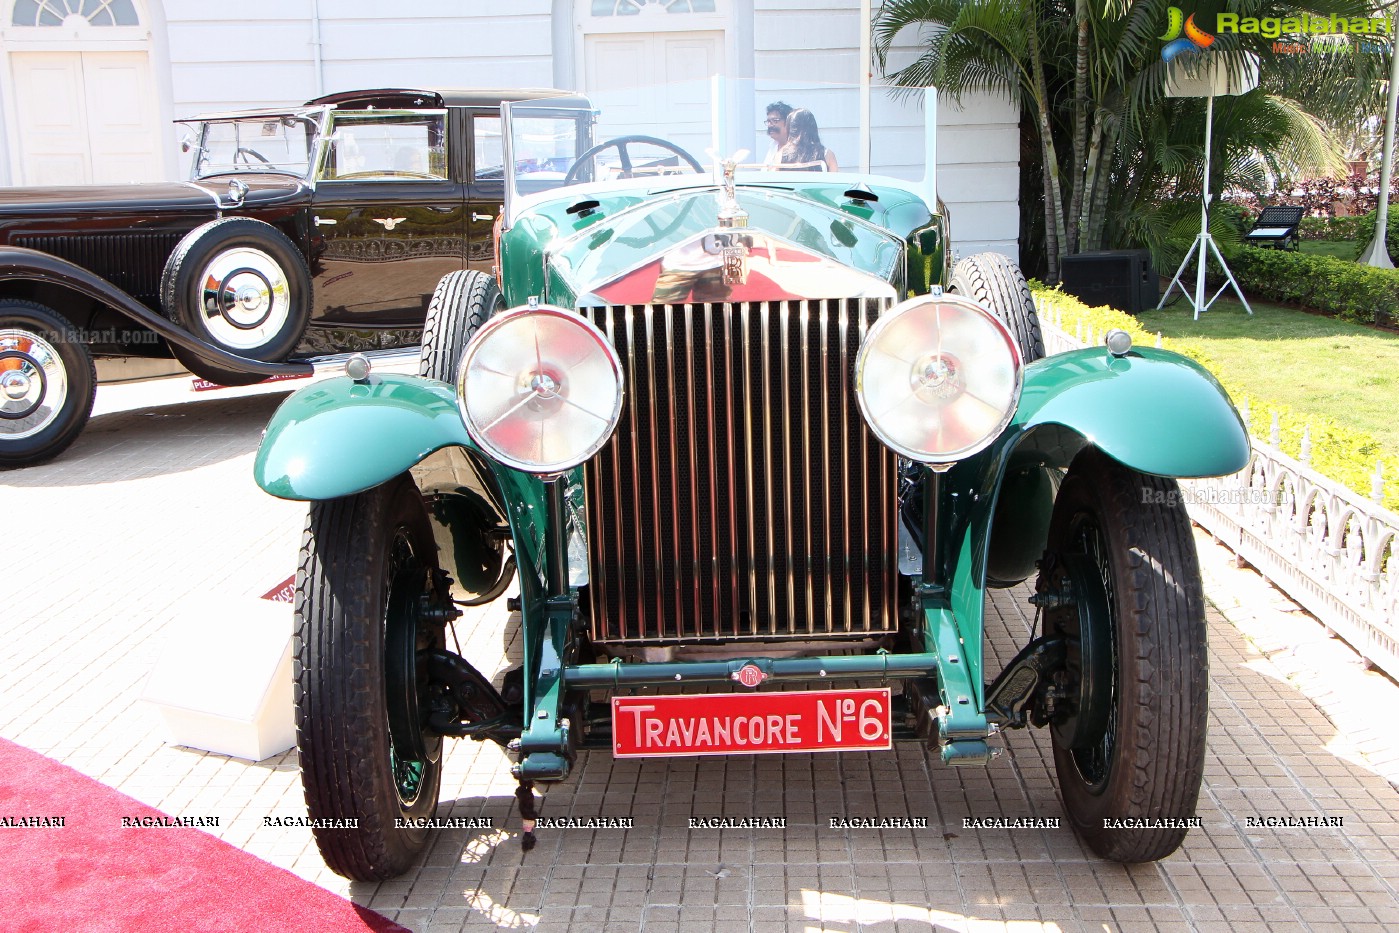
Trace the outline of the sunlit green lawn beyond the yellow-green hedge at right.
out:
[[[1142,326],[1186,341],[1233,385],[1274,399],[1298,414],[1372,434],[1399,456],[1399,334],[1347,325],[1266,302],[1220,298],[1191,319],[1185,301],[1137,316]],[[1255,424],[1265,432],[1266,424]]]

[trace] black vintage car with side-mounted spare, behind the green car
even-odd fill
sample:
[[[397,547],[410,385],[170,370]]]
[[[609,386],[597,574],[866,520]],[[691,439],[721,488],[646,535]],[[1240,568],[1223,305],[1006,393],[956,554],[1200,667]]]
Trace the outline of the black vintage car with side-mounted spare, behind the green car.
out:
[[[491,264],[501,102],[558,94],[350,91],[207,115],[187,120],[187,182],[0,189],[0,466],[77,438],[94,358],[173,357],[221,385],[355,351],[416,361],[438,280]],[[562,99],[586,134],[586,102]]]

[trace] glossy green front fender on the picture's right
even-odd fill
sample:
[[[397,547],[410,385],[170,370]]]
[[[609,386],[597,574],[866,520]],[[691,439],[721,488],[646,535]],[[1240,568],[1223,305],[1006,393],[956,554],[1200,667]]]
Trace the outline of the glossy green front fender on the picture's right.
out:
[[[1142,473],[1227,476],[1248,464],[1248,431],[1224,386],[1167,350],[1122,358],[1076,350],[1031,364],[1007,434],[1046,424],[1073,429]]]

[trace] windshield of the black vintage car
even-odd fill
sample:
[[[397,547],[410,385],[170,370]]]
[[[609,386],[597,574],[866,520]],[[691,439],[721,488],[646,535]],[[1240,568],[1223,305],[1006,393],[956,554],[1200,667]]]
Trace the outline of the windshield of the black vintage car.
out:
[[[204,120],[192,175],[278,172],[308,178],[323,116],[323,111],[304,111]]]

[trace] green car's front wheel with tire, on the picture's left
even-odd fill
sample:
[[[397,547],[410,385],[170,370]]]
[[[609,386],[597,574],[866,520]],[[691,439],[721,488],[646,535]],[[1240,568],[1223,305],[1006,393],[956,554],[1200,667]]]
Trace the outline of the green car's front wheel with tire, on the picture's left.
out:
[[[297,744],[312,820],[358,821],[313,829],[326,864],[357,881],[409,870],[428,831],[397,821],[436,811],[442,739],[420,727],[413,673],[418,652],[445,646],[442,622],[421,610],[436,575],[429,519],[406,474],[312,502],[297,574]]]

